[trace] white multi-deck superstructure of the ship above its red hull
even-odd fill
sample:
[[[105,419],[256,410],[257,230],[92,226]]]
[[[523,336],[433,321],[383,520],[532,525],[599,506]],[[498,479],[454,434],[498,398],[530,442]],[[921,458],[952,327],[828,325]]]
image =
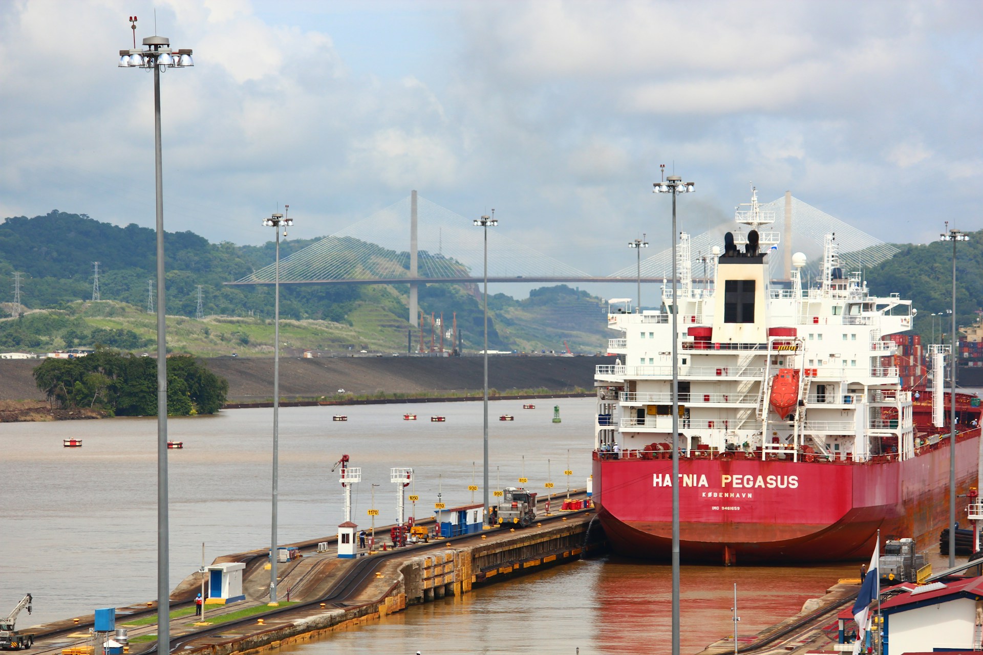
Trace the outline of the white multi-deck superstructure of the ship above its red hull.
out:
[[[913,457],[911,392],[901,389],[896,367],[882,365],[896,354],[882,337],[911,329],[910,300],[872,297],[859,274],[843,277],[834,235],[826,237],[815,285],[800,279],[801,253],[793,255],[790,282],[770,280],[766,259],[780,238],[767,231],[774,215],[761,210],[756,192],[742,207],[735,220],[749,230],[736,230],[723,254],[714,248],[713,284],[694,284],[681,267],[678,298],[665,285],[661,310],[632,312],[627,303],[609,310],[608,326],[621,335],[608,342],[616,359],[596,371],[596,448],[616,443],[621,457],[669,448],[675,310],[686,456]],[[798,376],[797,403],[784,416],[771,407],[780,369]]]

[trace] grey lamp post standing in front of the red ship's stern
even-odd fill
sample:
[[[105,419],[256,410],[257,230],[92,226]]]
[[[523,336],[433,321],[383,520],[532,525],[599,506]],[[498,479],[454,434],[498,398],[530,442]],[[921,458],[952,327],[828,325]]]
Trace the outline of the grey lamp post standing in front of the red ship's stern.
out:
[[[660,168],[665,176],[665,164]],[[692,193],[693,183],[670,175],[653,185],[656,193],[672,193],[672,655],[679,655],[679,335],[676,327],[679,300],[676,298],[676,222],[675,199]]]

